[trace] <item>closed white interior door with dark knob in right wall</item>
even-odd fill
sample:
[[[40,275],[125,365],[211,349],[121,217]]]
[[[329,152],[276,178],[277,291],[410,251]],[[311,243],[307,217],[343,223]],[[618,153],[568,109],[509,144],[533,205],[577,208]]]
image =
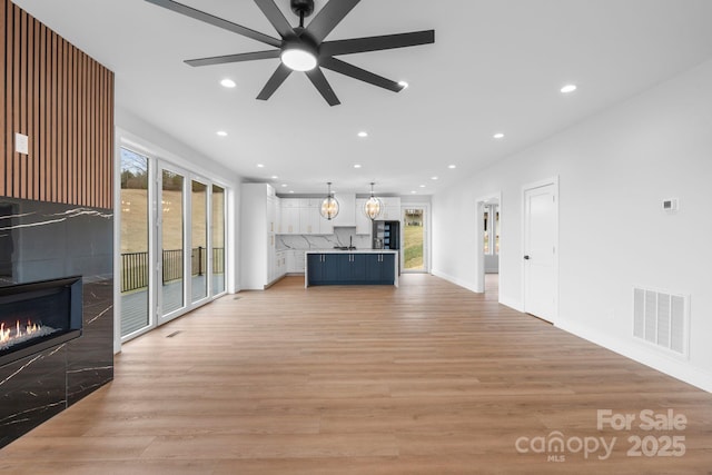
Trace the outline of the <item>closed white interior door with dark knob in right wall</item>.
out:
[[[558,300],[556,185],[524,190],[524,311],[548,321]]]

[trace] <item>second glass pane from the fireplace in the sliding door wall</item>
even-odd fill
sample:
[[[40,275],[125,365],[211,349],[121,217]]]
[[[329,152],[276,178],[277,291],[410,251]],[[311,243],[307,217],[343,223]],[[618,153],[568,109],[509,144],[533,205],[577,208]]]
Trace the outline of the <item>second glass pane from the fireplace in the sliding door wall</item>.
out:
[[[161,172],[161,316],[185,306],[184,184],[181,175]]]

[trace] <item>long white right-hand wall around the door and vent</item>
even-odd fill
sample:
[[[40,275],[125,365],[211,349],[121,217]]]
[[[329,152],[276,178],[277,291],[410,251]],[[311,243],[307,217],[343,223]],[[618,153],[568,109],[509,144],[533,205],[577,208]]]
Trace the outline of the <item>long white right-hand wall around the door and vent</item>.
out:
[[[558,177],[555,324],[712,390],[710,85],[712,61],[436,195],[433,273],[476,287],[475,202],[501,190],[500,298],[521,309],[522,187]],[[661,210],[671,197],[675,215]],[[633,285],[691,296],[689,362],[632,337]]]

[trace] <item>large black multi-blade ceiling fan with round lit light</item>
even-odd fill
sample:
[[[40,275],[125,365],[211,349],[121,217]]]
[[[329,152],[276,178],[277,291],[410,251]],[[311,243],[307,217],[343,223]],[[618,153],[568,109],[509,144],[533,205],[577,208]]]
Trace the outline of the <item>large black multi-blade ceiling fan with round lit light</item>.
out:
[[[324,39],[360,0],[328,1],[306,28],[304,27],[304,19],[314,12],[314,0],[290,0],[291,11],[299,17],[299,26],[294,28],[275,4],[274,0],[255,0],[257,7],[259,7],[281,37],[279,39],[241,27],[228,20],[196,10],[172,0],[146,1],[275,47],[276,49],[266,51],[217,56],[190,59],[186,61],[186,63],[197,67],[280,58],[281,62],[277,67],[277,70],[271,75],[267,85],[265,85],[257,96],[257,99],[261,100],[269,99],[291,71],[304,71],[329,106],[339,105],[340,102],[336,97],[336,93],[334,93],[334,90],[329,86],[320,68],[326,68],[360,81],[368,82],[394,92],[399,92],[404,89],[404,85],[366,71],[334,57],[339,55],[405,48],[435,42],[435,30],[324,41]]]

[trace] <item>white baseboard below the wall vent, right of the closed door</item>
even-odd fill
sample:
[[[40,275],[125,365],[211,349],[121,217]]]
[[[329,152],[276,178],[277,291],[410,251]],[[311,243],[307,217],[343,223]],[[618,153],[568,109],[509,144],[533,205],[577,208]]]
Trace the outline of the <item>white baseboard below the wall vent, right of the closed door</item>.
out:
[[[619,355],[631,358],[634,362],[696,386],[708,393],[712,393],[712,375],[691,367],[688,362],[660,355],[644,345],[639,346],[636,342],[632,339],[616,338],[575,323],[563,320],[556,326],[572,335],[576,335],[577,337],[610,349],[611,352],[615,352]]]

